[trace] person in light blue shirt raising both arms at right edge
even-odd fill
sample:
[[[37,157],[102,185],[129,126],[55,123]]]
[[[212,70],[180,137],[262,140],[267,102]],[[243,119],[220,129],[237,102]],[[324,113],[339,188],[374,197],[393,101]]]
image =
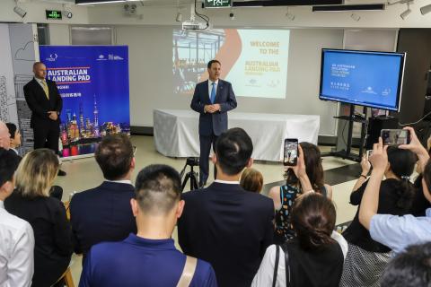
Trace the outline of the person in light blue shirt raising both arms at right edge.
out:
[[[422,146],[415,130],[406,127],[410,132],[410,143],[402,144],[400,148],[415,152],[419,164],[423,167],[422,187],[427,201],[431,202],[431,161],[427,150]],[[431,209],[427,209],[425,217],[414,217],[411,214],[397,216],[378,213],[379,191],[384,170],[388,162],[387,146],[383,147],[382,138],[374,144],[373,155],[369,161],[373,166],[371,177],[365,188],[359,208],[359,222],[370,230],[371,238],[400,253],[413,244],[431,241]]]

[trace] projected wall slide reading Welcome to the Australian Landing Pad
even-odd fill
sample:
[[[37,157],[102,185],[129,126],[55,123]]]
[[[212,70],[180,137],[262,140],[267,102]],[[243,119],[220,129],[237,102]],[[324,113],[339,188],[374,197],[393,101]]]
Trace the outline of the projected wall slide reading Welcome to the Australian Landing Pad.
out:
[[[173,31],[174,92],[192,94],[207,80],[207,62],[222,63],[221,78],[237,97],[286,98],[289,30]]]

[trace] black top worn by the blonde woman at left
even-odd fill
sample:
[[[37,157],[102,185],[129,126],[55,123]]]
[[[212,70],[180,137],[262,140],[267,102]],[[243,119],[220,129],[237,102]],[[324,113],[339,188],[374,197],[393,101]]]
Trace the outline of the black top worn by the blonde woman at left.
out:
[[[4,207],[9,213],[29,222],[33,229],[34,275],[31,286],[46,287],[56,283],[66,271],[74,250],[65,205],[57,198],[26,198],[13,192],[4,201]]]

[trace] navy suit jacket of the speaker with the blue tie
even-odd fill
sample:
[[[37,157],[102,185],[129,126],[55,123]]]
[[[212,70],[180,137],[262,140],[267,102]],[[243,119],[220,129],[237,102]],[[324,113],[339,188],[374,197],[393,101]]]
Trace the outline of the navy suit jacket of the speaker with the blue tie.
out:
[[[220,104],[221,111],[214,114],[205,113],[204,106],[211,105],[208,94],[208,81],[198,83],[191,100],[190,108],[200,113],[199,135],[220,135],[227,130],[227,112],[236,108],[232,84],[218,80],[215,103]]]

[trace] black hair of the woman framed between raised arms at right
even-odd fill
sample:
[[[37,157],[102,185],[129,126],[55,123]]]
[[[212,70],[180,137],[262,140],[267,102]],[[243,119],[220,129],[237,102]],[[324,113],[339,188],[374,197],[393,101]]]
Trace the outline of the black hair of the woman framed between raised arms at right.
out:
[[[388,161],[391,164],[391,171],[397,178],[400,178],[398,185],[392,191],[399,197],[397,207],[407,211],[409,210],[415,195],[415,187],[411,184],[409,178],[415,170],[416,161],[415,153],[409,150],[401,150],[397,147],[388,148]]]

